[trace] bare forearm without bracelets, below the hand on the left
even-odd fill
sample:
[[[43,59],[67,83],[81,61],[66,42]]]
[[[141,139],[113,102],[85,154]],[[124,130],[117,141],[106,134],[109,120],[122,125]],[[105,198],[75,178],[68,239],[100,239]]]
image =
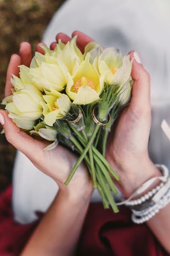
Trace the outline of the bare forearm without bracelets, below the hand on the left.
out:
[[[73,198],[59,192],[26,244],[22,256],[68,256],[74,253],[91,198],[91,190]]]

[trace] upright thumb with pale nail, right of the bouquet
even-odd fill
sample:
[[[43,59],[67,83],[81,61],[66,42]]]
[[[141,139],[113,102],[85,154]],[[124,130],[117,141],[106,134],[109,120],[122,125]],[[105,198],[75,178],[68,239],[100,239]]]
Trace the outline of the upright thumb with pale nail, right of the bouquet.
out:
[[[150,106],[150,75],[141,64],[137,52],[131,51],[129,54],[130,59],[133,58],[131,77],[134,81],[130,107],[140,111]]]

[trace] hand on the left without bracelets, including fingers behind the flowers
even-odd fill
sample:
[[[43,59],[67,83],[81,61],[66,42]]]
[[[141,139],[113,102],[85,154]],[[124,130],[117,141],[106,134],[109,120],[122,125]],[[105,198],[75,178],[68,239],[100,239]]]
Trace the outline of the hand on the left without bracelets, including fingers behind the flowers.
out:
[[[43,54],[43,50],[37,45],[37,51]],[[20,45],[20,55],[14,54],[8,65],[5,96],[11,95],[11,74],[19,76],[18,66],[24,64],[29,66],[31,63],[31,46],[23,42]],[[86,167],[81,164],[78,171],[68,186],[64,185],[69,172],[77,161],[77,157],[62,146],[43,152],[43,149],[50,143],[47,141],[39,141],[28,135],[26,132],[20,131],[20,128],[8,118],[6,111],[0,110],[4,118],[3,128],[5,130],[6,139],[15,148],[23,152],[34,165],[52,177],[61,191],[69,194],[72,198],[88,196],[92,192],[91,180],[88,176]]]

